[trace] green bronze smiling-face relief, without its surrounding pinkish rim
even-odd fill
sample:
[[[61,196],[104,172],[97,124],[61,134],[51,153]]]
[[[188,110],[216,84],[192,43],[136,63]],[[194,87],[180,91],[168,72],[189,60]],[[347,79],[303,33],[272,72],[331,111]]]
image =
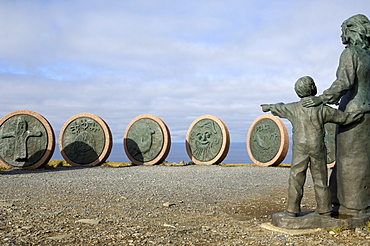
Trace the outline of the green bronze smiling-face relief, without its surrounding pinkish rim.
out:
[[[214,120],[200,120],[190,130],[191,154],[201,162],[214,159],[221,150],[222,141],[221,128]]]

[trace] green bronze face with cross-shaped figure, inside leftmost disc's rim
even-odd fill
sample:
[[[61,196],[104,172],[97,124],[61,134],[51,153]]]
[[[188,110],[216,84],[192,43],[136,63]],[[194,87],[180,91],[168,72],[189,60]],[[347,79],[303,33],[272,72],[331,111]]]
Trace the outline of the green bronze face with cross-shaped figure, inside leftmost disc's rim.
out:
[[[47,145],[45,127],[31,115],[15,115],[0,126],[0,157],[13,167],[32,166],[43,157]]]

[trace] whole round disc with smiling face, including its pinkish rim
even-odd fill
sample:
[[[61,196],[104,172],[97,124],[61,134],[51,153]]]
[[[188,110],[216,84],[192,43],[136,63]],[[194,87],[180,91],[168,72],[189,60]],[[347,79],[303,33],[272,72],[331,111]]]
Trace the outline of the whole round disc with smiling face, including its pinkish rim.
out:
[[[220,163],[225,159],[229,146],[230,136],[226,125],[212,115],[197,118],[186,134],[186,151],[195,164]]]

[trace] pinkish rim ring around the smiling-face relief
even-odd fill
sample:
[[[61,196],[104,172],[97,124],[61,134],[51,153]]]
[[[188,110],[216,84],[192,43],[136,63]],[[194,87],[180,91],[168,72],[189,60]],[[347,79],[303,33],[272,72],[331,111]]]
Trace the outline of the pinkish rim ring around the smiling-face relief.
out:
[[[191,130],[193,129],[193,127],[195,126],[196,123],[198,123],[199,121],[204,120],[204,119],[209,119],[209,120],[215,121],[218,124],[218,126],[220,127],[220,129],[221,129],[222,136],[225,136],[224,139],[223,139],[225,141],[222,141],[220,152],[212,160],[209,160],[209,161],[206,161],[206,162],[199,161],[198,159],[196,159],[192,155],[191,149],[190,149],[190,144],[189,144],[189,138],[190,138],[190,132],[191,132]],[[213,115],[203,115],[203,116],[200,116],[197,119],[195,119],[193,121],[193,123],[191,123],[191,125],[189,126],[188,132],[186,133],[185,145],[186,145],[186,152],[188,153],[189,158],[195,164],[197,164],[197,165],[213,165],[213,164],[218,164],[218,163],[222,162],[225,159],[225,157],[227,156],[227,154],[229,152],[229,147],[230,147],[230,134],[229,134],[229,130],[227,129],[226,124],[220,118],[218,118],[216,116],[213,116]]]

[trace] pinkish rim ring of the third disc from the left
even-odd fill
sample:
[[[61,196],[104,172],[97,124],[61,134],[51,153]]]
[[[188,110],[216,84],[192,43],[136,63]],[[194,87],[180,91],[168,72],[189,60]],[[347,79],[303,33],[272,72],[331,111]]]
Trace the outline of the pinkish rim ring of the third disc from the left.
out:
[[[159,152],[159,154],[157,155],[156,158],[154,158],[151,161],[146,161],[146,162],[145,161],[141,162],[141,161],[136,160],[134,157],[131,156],[130,152],[127,149],[127,135],[128,135],[128,132],[129,132],[131,126],[133,124],[135,124],[138,120],[141,120],[141,119],[151,119],[151,120],[155,121],[159,125],[159,127],[162,129],[162,133],[163,133],[163,147],[162,147],[162,150]],[[135,165],[155,165],[155,164],[162,163],[166,159],[168,153],[170,152],[170,148],[171,148],[170,131],[169,131],[167,125],[164,123],[164,121],[161,120],[160,118],[158,118],[157,116],[154,116],[154,115],[151,115],[151,114],[139,115],[135,119],[133,119],[130,122],[130,124],[127,126],[124,137],[123,137],[123,147],[124,147],[124,150],[125,150],[125,153],[126,153],[127,157]]]

